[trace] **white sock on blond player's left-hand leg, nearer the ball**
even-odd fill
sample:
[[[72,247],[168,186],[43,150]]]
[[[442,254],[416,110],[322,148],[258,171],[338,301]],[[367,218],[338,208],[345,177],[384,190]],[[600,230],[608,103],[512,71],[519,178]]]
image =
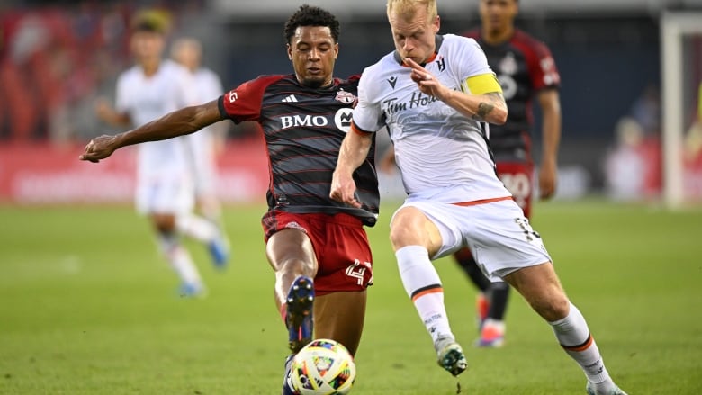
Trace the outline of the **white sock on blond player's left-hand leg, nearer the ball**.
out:
[[[444,288],[437,269],[429,260],[427,248],[401,247],[395,252],[405,292],[434,342],[438,337],[454,337],[444,306]]]

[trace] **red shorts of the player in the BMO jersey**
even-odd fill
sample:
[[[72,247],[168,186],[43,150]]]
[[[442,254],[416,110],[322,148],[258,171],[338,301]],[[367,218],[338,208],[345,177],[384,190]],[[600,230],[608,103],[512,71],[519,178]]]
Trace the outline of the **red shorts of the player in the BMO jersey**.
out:
[[[301,229],[310,238],[317,262],[317,295],[363,291],[373,283],[373,255],[361,220],[348,214],[295,214],[269,211],[261,222],[266,241],[283,229]]]

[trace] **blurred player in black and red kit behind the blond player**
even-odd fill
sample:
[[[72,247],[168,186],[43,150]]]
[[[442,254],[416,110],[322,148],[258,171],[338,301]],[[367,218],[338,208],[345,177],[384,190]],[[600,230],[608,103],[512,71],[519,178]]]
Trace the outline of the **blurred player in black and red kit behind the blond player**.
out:
[[[490,147],[500,180],[525,217],[530,219],[532,195],[536,190],[531,140],[532,100],[536,98],[542,113],[538,192],[541,199],[549,199],[554,196],[557,180],[561,77],[545,44],[515,27],[518,3],[518,0],[480,0],[481,27],[465,35],[478,41],[502,85],[509,113],[505,124],[491,125]],[[481,336],[476,345],[502,346],[509,284],[491,283],[467,248],[456,252],[454,257],[481,291],[476,301]]]

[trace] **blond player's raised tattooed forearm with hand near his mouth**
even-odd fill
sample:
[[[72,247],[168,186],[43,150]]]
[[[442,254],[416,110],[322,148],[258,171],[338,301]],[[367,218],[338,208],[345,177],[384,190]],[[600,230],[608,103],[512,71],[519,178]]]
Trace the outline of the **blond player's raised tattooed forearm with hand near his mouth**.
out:
[[[405,59],[405,64],[412,68],[411,78],[417,83],[419,90],[423,94],[437,97],[437,99],[453,107],[457,112],[461,112],[477,121],[499,125],[507,121],[507,103],[505,103],[505,98],[500,92],[500,84],[497,83],[496,79],[493,85],[495,88],[494,92],[466,94],[449,89],[446,85],[441,84],[426,68],[421,67],[410,58]],[[471,85],[470,82],[468,85]],[[485,85],[481,84],[481,87],[483,86]]]

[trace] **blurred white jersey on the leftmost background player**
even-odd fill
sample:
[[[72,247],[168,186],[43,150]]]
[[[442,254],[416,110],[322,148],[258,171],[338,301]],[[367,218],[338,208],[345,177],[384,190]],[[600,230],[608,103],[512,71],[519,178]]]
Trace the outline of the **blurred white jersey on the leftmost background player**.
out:
[[[173,61],[163,61],[153,76],[145,76],[141,67],[134,66],[117,81],[116,107],[119,112],[129,114],[134,126],[143,125],[197,103],[193,86],[188,70]],[[184,138],[139,144],[139,182],[188,175],[186,144]]]

